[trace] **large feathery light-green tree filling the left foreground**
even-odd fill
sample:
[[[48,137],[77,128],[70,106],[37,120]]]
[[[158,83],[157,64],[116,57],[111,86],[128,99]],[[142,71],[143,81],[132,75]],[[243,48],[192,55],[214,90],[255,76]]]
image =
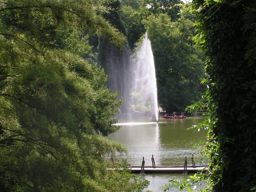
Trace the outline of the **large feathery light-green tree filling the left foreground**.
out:
[[[108,158],[121,101],[90,59],[90,34],[123,47],[105,1],[6,1],[0,12],[1,191],[141,191]],[[87,35],[85,35],[87,34]]]

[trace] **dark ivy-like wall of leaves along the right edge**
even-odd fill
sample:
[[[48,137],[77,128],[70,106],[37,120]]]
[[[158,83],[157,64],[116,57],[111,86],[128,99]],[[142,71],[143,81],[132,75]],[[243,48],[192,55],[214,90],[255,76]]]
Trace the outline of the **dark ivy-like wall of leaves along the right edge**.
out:
[[[208,130],[205,177],[213,191],[250,191],[256,186],[255,1],[193,2],[197,41],[206,51],[204,101]],[[192,109],[193,107],[191,107]]]

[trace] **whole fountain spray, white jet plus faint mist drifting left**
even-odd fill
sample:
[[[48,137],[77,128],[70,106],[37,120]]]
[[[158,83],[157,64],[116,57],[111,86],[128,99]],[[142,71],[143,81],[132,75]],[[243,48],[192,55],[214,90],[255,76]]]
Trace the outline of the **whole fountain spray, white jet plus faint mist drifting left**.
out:
[[[158,121],[155,63],[147,34],[135,53],[128,46],[122,51],[108,47],[102,67],[108,74],[107,86],[119,91],[124,101],[117,117],[134,121],[137,117],[150,117]]]

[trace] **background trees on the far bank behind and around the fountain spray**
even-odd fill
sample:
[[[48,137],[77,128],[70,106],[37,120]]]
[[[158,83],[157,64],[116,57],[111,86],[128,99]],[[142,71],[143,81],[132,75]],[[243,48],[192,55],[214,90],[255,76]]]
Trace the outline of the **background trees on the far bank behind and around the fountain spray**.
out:
[[[107,39],[99,39],[98,62],[109,75],[108,87],[125,97],[124,109],[131,108],[127,107],[127,78],[132,76],[128,74],[129,56],[134,55],[146,31],[154,52],[159,105],[169,113],[182,111],[205,90],[200,83],[204,54],[192,41],[195,31],[188,18],[193,17],[181,13],[182,6],[180,1],[126,0],[113,4],[115,12],[107,14],[106,18],[127,36],[128,44],[119,50]]]

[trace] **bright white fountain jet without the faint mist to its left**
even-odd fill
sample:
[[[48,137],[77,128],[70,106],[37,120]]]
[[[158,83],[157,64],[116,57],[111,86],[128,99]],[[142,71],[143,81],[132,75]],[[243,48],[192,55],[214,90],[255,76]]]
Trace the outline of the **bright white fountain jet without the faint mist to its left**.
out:
[[[147,33],[137,49],[132,65],[132,79],[131,105],[133,109],[151,111],[158,122],[155,62]]]

